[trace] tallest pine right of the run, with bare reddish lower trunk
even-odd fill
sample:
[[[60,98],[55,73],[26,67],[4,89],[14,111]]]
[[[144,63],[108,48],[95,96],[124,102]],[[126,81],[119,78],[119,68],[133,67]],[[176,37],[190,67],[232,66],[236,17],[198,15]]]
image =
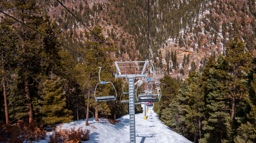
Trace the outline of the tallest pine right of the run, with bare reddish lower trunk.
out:
[[[235,37],[226,48],[226,56],[224,58],[224,68],[230,77],[228,78],[227,83],[230,85],[228,87],[227,95],[232,98],[232,111],[231,111],[231,120],[234,119],[235,115],[235,102],[236,99],[243,98],[244,93],[240,89],[246,89],[245,84],[243,83],[244,72],[249,71],[250,61],[252,55],[250,53],[244,52],[245,45],[243,41],[238,41],[238,38]]]

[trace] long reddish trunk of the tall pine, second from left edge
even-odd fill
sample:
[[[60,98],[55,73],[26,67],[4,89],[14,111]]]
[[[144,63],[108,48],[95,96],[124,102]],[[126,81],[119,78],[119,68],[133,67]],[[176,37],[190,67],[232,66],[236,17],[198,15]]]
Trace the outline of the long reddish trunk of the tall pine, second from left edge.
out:
[[[25,53],[26,53],[26,49],[25,49],[25,36],[24,36],[24,33],[22,33],[22,56],[24,58],[24,61],[23,61],[23,73],[25,74],[24,75],[24,86],[25,86],[25,95],[26,95],[26,99],[27,99],[27,106],[29,108],[29,124],[31,125],[32,122],[33,122],[33,114],[32,114],[32,105],[31,105],[31,101],[30,101],[30,91],[29,91],[29,84],[28,84],[28,77],[26,75],[26,72],[27,72],[27,59],[25,57]]]

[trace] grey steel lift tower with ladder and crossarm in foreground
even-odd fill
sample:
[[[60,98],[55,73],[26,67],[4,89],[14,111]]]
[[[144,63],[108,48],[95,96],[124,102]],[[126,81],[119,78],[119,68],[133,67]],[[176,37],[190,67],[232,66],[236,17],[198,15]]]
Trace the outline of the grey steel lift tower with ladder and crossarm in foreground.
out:
[[[137,66],[122,66],[123,64],[136,63]],[[143,66],[139,66],[139,63],[143,63]],[[115,62],[117,72],[115,77],[128,77],[129,85],[129,121],[130,121],[130,143],[135,143],[135,98],[134,98],[134,78],[135,77],[147,77],[148,73],[145,71],[147,61],[131,61],[131,62]],[[126,68],[135,67],[135,74],[127,74]],[[121,102],[122,103],[122,102]],[[141,103],[137,103],[141,104]]]

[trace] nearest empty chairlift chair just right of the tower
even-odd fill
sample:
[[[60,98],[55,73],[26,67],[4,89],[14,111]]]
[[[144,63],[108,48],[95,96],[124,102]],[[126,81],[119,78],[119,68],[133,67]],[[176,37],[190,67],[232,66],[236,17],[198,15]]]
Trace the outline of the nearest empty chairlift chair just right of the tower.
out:
[[[154,78],[154,76],[155,76],[155,74],[154,74],[155,68],[154,68],[152,62],[151,62],[151,64],[152,64],[152,67],[153,67],[153,78]],[[147,82],[148,81],[156,81],[157,85],[159,85],[158,81],[153,79],[153,78],[147,78],[147,79],[140,80],[139,84],[138,84],[138,87],[139,87],[141,81],[147,81]],[[152,83],[151,83],[151,86],[152,86]],[[136,89],[136,99],[137,99],[138,102],[159,102],[160,101],[160,98],[162,96],[160,86],[159,86],[160,94],[155,94],[154,91],[152,93],[152,87],[153,87],[152,86],[151,90],[148,90],[148,93],[139,94],[139,96],[137,96],[138,87]]]

